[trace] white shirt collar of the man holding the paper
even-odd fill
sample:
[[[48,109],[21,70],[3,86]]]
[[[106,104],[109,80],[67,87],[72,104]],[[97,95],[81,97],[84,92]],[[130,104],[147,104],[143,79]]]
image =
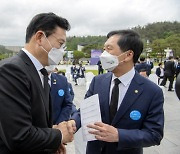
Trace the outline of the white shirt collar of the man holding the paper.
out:
[[[135,75],[135,70],[134,67],[127,73],[125,73],[124,75],[118,77],[118,79],[121,81],[121,83],[124,86],[127,86],[128,84],[130,84],[131,80],[133,79]],[[114,74],[112,76],[112,82],[114,81],[114,79],[117,78]]]

